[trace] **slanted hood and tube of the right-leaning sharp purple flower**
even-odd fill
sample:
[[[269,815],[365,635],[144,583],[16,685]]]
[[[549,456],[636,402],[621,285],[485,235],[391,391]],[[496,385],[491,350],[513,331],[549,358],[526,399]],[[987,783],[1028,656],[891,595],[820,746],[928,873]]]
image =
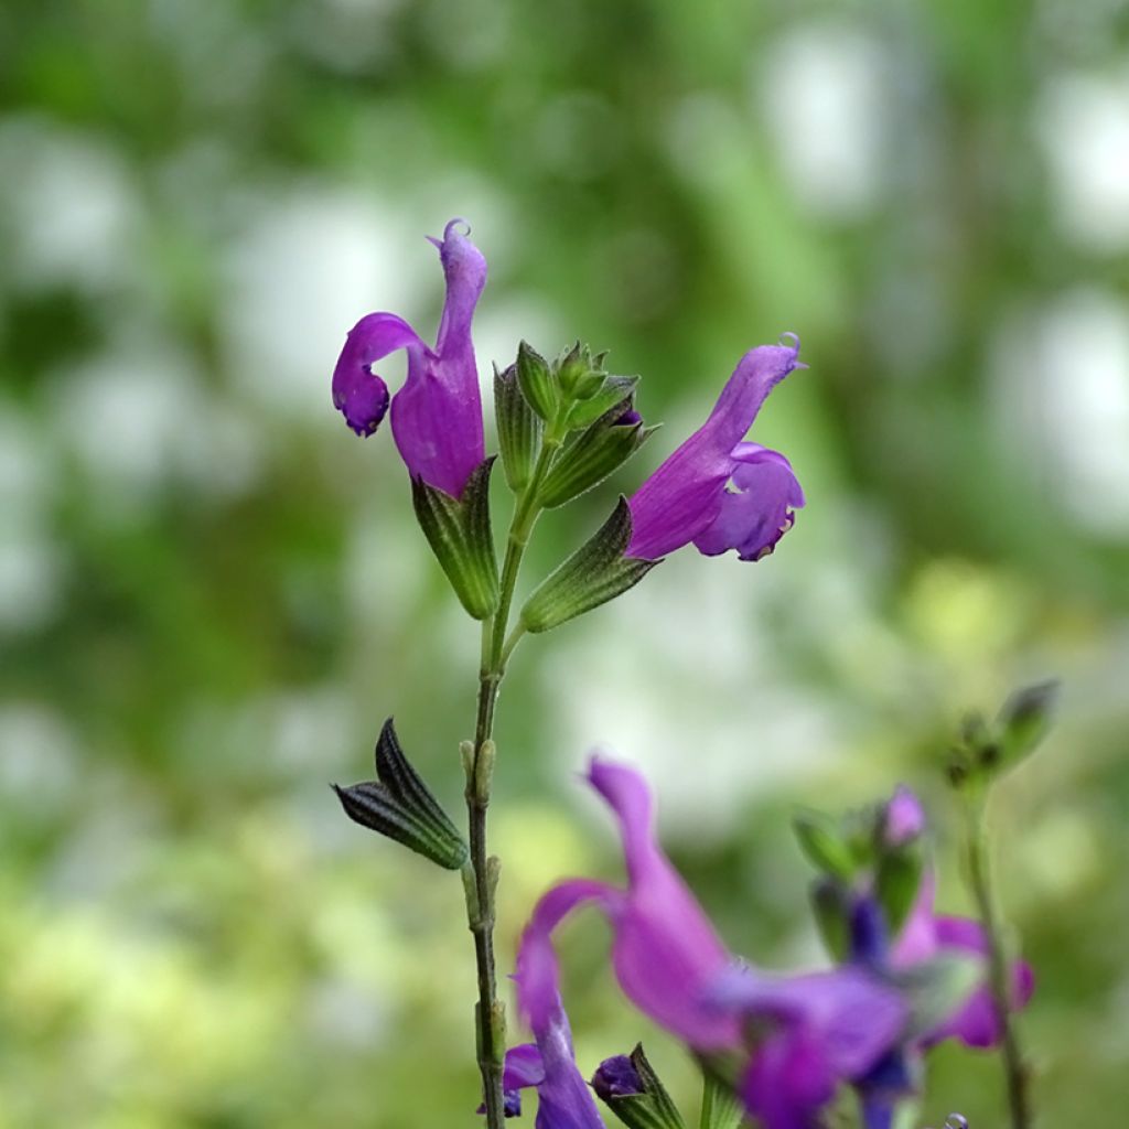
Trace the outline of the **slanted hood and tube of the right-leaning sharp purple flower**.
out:
[[[628,557],[656,560],[694,541],[717,520],[734,470],[733,450],[764,397],[796,368],[797,352],[790,345],[761,345],[742,357],[706,423],[629,499]]]

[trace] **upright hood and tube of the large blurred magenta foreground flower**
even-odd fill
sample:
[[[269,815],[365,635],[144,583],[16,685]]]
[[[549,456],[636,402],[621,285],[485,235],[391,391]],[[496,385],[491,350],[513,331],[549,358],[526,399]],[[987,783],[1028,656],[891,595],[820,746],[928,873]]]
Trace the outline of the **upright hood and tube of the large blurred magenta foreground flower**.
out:
[[[593,759],[588,780],[620,823],[628,892],[614,914],[612,963],[624,994],[692,1047],[734,1042],[739,1026],[707,990],[730,956],[655,839],[650,790],[633,769]]]

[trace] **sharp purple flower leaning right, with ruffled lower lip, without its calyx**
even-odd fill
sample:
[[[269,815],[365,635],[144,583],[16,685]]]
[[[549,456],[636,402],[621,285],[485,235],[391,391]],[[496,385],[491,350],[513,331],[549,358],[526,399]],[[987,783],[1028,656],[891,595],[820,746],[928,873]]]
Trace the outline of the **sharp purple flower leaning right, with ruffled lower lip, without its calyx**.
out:
[[[709,419],[630,498],[628,557],[655,560],[692,541],[707,557],[736,549],[760,560],[791,528],[804,505],[791,464],[743,441],[772,388],[805,367],[795,334],[781,342],[741,358]]]

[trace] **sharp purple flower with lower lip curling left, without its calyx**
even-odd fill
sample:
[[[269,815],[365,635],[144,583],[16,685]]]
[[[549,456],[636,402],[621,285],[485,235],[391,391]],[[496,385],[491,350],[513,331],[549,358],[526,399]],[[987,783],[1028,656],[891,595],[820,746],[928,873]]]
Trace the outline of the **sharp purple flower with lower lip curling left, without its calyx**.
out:
[[[392,434],[409,473],[454,498],[485,457],[482,401],[471,343],[471,317],[487,281],[487,261],[452,220],[439,248],[447,280],[439,334],[431,349],[395,314],[368,314],[345,338],[333,370],[333,405],[360,436],[371,435],[388,410],[388,387],[373,365],[408,352],[408,378],[392,397]]]

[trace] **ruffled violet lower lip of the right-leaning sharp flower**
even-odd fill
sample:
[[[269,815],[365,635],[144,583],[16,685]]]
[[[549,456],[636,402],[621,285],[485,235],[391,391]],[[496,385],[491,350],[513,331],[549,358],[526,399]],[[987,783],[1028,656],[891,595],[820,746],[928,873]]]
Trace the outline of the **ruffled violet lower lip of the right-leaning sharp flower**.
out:
[[[791,528],[804,491],[784,455],[755,443],[742,443],[733,453],[733,490],[721,493],[714,522],[694,537],[707,557],[736,549],[743,561],[768,555]]]

